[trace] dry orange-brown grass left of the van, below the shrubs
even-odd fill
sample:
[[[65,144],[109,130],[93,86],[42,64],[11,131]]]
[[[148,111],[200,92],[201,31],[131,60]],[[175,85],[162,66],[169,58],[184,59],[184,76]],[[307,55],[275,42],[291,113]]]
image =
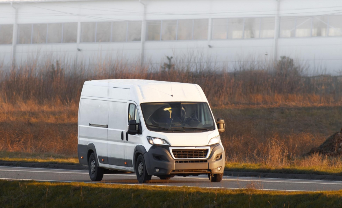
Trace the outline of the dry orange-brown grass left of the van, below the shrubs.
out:
[[[76,105],[1,103],[0,150],[77,155]]]

